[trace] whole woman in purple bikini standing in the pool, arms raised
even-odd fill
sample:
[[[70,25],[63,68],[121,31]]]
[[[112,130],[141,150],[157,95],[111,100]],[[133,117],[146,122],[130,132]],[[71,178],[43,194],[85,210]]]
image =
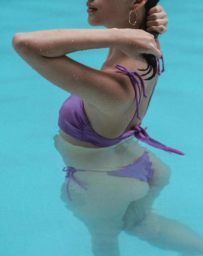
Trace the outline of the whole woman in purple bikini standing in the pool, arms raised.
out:
[[[122,230],[163,249],[191,255],[203,251],[200,235],[151,212],[169,183],[170,168],[135,140],[184,155],[151,139],[141,127],[161,74],[157,65],[162,53],[155,37],[166,32],[168,23],[157,2],[93,0],[87,2],[95,8],[88,9],[88,23],[107,29],[17,33],[12,40],[33,69],[71,93],[59,110],[59,135],[53,138],[69,178],[61,199],[87,226],[95,256],[119,256]],[[66,56],[105,47],[109,54],[101,70]],[[139,71],[148,69],[144,82]],[[175,230],[170,233],[167,225]],[[183,240],[177,242],[175,234]]]

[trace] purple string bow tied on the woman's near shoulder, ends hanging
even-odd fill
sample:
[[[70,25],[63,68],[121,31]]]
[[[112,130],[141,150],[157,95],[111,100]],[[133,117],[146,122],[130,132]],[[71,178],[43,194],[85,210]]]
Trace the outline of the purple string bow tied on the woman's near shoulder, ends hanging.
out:
[[[147,98],[147,95],[145,93],[144,80],[142,79],[141,75],[137,71],[130,72],[126,67],[124,67],[123,65],[120,65],[120,64],[115,64],[114,67],[116,67],[116,69],[119,69],[121,71],[113,71],[113,72],[126,74],[126,75],[128,75],[130,77],[130,79],[132,81],[132,84],[134,85],[134,89],[135,89],[136,106],[137,106],[137,109],[136,109],[135,113],[137,113],[137,118],[141,120],[141,117],[139,115],[139,106],[140,106],[140,101],[141,101],[141,88],[140,88],[140,81],[136,79],[135,75],[137,75],[137,76],[139,76],[141,78],[143,95],[144,95],[145,98]],[[138,89],[139,89],[139,92],[140,92],[140,99],[139,100],[138,100],[138,96],[137,96],[136,83],[137,83],[137,86],[138,86]]]

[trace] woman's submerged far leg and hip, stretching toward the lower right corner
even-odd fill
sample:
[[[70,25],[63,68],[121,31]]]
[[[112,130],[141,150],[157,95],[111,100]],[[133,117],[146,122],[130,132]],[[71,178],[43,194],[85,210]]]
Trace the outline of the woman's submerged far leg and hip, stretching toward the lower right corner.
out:
[[[124,231],[164,250],[174,250],[183,255],[203,255],[203,236],[188,225],[152,212],[155,199],[170,182],[170,167],[149,153],[152,169],[146,196],[130,202],[123,220]]]

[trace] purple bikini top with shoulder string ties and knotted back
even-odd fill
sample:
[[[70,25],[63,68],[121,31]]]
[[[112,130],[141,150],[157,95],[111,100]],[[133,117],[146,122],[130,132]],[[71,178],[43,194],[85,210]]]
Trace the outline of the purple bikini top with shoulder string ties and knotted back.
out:
[[[161,72],[160,72],[160,59],[162,59],[162,64],[163,64],[163,69]],[[161,73],[163,71],[165,71],[163,55],[160,58],[158,58],[157,61],[159,63],[158,75],[161,75]],[[136,72],[136,71],[130,72],[126,67],[124,67],[120,64],[115,64],[114,67],[116,67],[116,69],[119,69],[120,71],[113,71],[113,72],[123,73],[130,77],[132,84],[134,86],[135,95],[136,95],[137,109],[135,111],[134,117],[132,118],[130,124],[127,126],[124,133],[115,139],[107,139],[107,138],[97,134],[90,126],[87,116],[85,115],[83,100],[73,94],[71,94],[71,96],[66,101],[64,101],[63,105],[61,106],[61,109],[59,110],[58,126],[60,127],[60,129],[62,131],[64,131],[67,135],[74,137],[75,139],[77,139],[79,141],[88,142],[88,143],[90,143],[94,146],[98,146],[98,147],[110,147],[110,146],[116,145],[119,142],[130,137],[132,134],[134,134],[134,136],[138,140],[141,140],[153,147],[165,150],[170,153],[173,152],[173,153],[176,153],[179,155],[184,155],[184,153],[179,150],[172,149],[171,147],[166,147],[165,145],[161,144],[160,142],[151,139],[150,136],[146,133],[145,129],[143,129],[140,126],[141,123],[138,126],[133,126],[130,131],[127,131],[129,126],[131,125],[132,121],[134,120],[136,114],[137,114],[137,118],[141,120],[141,117],[139,116],[139,105],[140,105],[140,101],[141,101],[141,88],[140,88],[140,81],[136,79],[135,75],[140,77],[143,94],[144,94],[144,97],[147,98],[147,95],[145,94],[145,84],[144,84],[144,81],[143,81],[141,75],[138,72]],[[140,92],[139,100],[138,100],[138,96],[137,96],[136,84],[137,84],[139,92]],[[156,84],[155,84],[155,86],[156,86]],[[154,88],[155,88],[155,86],[154,86]],[[152,92],[152,94],[153,94],[153,92]],[[150,97],[150,100],[151,100],[151,97]],[[148,106],[149,106],[149,103],[148,103]]]

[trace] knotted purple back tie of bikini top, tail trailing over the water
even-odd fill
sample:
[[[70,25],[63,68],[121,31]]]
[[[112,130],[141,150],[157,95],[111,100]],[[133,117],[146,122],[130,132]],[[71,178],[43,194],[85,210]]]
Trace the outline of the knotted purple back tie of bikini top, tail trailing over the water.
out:
[[[132,130],[135,130],[134,135],[138,140],[145,142],[152,147],[156,147],[157,149],[162,149],[166,152],[169,152],[170,154],[172,152],[172,153],[182,155],[182,156],[185,155],[183,152],[181,152],[177,149],[172,149],[171,147],[167,147],[167,146],[161,144],[160,142],[150,138],[150,136],[147,134],[145,129],[143,129],[141,126],[136,126],[136,125],[132,127]]]

